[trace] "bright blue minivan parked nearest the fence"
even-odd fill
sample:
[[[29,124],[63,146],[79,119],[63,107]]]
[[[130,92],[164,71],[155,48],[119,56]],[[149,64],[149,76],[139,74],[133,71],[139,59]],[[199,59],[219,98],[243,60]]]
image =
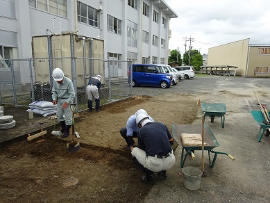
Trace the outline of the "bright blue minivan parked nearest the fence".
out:
[[[169,88],[172,85],[172,78],[158,64],[133,64],[132,86],[157,86]]]

